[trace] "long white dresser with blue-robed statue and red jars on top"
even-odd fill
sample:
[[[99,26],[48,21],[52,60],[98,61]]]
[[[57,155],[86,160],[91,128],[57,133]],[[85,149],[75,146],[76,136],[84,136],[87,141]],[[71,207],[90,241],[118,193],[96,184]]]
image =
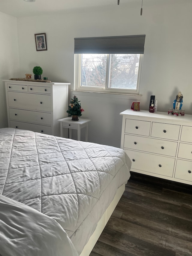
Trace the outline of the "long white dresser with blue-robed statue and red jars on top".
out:
[[[129,109],[120,115],[131,171],[192,185],[192,115]]]

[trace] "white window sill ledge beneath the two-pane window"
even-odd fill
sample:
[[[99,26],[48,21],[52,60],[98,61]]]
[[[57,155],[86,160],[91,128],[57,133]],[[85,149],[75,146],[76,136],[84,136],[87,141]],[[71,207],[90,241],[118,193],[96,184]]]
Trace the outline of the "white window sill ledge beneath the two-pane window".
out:
[[[123,94],[123,93],[111,93],[111,92],[89,92],[89,91],[75,91],[71,90],[74,95],[84,95],[84,96],[96,96],[96,97],[110,97],[110,98],[121,98],[128,100],[139,101],[142,97],[141,94]]]

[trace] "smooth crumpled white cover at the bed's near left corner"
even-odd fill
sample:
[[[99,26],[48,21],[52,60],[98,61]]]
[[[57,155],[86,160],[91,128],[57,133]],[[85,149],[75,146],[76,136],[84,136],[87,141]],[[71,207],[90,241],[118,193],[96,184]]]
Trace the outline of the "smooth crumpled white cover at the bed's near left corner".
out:
[[[67,233],[41,212],[0,195],[2,256],[78,256]]]

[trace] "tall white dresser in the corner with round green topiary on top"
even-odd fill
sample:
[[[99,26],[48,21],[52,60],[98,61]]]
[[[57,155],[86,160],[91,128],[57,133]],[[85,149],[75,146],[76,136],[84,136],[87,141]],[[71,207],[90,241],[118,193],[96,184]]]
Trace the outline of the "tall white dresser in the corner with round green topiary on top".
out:
[[[70,83],[3,81],[8,127],[60,136],[57,120],[67,116]]]

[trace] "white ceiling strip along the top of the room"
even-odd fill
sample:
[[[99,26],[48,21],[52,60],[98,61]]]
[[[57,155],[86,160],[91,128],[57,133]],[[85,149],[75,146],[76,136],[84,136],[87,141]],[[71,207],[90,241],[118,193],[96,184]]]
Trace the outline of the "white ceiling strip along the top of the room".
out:
[[[143,0],[143,8],[147,5],[158,4],[185,4],[192,0]],[[0,12],[14,17],[27,17],[49,14],[52,12],[63,12],[85,8],[109,8],[127,5],[141,6],[142,0],[36,0],[35,2],[26,2],[23,0],[0,0]]]

